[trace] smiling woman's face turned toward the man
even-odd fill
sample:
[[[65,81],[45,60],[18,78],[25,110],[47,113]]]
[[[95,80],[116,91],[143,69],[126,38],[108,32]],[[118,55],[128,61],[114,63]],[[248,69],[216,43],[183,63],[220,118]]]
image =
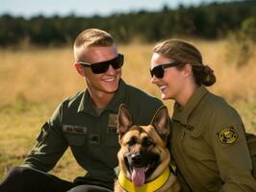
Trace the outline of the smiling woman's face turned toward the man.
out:
[[[168,59],[161,54],[154,53],[151,59],[150,69],[152,70],[158,65],[166,65],[174,61],[175,60]],[[182,91],[185,86],[186,78],[184,77],[184,70],[178,69],[176,66],[168,67],[164,70],[164,77],[157,78],[153,76],[151,83],[159,87],[163,100],[174,99],[177,101],[177,99],[182,96]]]

